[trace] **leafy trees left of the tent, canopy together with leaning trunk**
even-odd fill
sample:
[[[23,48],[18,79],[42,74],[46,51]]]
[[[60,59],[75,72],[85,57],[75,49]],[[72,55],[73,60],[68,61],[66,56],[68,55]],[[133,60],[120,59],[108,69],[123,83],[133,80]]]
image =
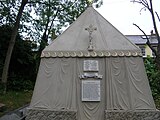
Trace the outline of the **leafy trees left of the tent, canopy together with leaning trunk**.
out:
[[[101,3],[99,1],[101,0],[95,0],[98,2],[97,5]],[[0,15],[2,15],[0,25],[14,24],[2,73],[2,84],[4,93],[6,93],[9,64],[18,28],[23,33],[28,32],[29,37],[34,36],[33,40],[38,38],[36,40],[40,41],[41,51],[46,46],[48,38],[56,37],[57,33],[60,34],[62,26],[71,24],[84,11],[89,2],[87,0],[22,0],[20,3],[19,0],[6,0],[0,3]],[[33,10],[36,18],[30,15]]]

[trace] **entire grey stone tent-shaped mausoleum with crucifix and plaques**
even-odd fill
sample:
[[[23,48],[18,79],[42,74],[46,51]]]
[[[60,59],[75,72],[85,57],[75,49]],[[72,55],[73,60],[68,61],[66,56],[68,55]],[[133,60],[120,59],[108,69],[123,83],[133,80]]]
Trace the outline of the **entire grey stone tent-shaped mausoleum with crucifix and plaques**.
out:
[[[141,50],[93,7],[41,55],[27,120],[160,120]]]

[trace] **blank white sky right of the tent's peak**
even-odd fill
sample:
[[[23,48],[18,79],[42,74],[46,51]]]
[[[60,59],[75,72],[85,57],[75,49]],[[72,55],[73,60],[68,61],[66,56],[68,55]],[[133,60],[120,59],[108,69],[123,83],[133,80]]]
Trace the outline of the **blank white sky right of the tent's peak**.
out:
[[[141,11],[142,5],[130,1],[103,0],[103,5],[100,8],[96,8],[96,10],[124,35],[143,34],[133,23],[140,26],[146,34],[150,34],[150,31],[153,30],[153,23],[149,11]],[[160,16],[160,0],[153,0],[153,6]],[[160,28],[158,19],[157,23],[158,28]]]

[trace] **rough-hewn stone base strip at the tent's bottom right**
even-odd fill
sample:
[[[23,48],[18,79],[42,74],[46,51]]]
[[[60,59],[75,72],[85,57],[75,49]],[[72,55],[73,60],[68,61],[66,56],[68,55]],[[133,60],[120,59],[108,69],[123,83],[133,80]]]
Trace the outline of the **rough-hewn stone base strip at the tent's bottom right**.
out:
[[[105,120],[160,120],[158,110],[105,111]]]

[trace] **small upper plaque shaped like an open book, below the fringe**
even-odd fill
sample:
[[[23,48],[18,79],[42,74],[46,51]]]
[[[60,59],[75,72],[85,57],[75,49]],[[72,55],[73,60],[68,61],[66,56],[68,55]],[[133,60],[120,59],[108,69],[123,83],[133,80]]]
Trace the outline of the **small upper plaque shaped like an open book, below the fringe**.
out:
[[[84,60],[83,69],[84,71],[98,71],[98,61],[97,60]]]

